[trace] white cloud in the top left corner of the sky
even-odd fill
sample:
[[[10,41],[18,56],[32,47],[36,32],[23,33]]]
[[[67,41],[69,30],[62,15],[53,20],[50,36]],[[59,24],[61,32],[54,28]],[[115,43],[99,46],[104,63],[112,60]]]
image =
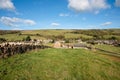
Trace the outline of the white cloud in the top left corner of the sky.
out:
[[[11,0],[0,0],[0,9],[15,10],[15,6]]]

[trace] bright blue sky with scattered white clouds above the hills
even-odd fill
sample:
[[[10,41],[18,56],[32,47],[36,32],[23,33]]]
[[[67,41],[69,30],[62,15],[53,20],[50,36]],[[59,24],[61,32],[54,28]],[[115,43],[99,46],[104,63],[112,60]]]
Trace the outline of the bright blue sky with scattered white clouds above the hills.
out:
[[[0,0],[0,29],[120,28],[120,0]]]

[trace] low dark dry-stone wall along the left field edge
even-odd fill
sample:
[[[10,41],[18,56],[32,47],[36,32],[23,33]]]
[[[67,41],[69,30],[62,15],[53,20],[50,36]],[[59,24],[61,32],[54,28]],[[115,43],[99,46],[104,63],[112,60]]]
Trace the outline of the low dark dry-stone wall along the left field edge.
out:
[[[5,44],[0,45],[0,58],[6,58],[15,54],[23,54],[30,50],[35,49],[44,49],[48,48],[44,45],[29,45],[29,44],[20,44],[20,45],[14,45],[14,44]]]

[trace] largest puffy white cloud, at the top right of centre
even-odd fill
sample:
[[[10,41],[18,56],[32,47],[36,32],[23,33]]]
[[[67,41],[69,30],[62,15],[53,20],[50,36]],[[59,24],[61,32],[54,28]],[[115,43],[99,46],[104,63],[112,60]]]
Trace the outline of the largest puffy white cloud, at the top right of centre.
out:
[[[98,11],[110,8],[106,0],[69,0],[68,7],[78,12]]]

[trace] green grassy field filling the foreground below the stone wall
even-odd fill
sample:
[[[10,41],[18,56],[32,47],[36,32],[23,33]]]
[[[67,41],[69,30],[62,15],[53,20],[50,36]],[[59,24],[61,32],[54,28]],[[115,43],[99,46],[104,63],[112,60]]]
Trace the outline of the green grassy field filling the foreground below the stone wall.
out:
[[[31,51],[1,59],[0,80],[120,80],[120,62],[108,57],[84,49]]]

